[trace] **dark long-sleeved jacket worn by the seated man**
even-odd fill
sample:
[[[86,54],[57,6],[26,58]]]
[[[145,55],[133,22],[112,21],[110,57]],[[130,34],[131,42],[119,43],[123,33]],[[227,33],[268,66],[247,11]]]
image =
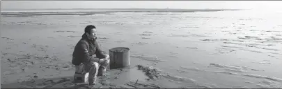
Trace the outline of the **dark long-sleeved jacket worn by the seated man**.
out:
[[[72,64],[79,66],[80,63],[94,61],[93,55],[96,55],[96,57],[100,59],[105,58],[97,41],[90,40],[87,38],[86,34],[83,34],[72,53]]]

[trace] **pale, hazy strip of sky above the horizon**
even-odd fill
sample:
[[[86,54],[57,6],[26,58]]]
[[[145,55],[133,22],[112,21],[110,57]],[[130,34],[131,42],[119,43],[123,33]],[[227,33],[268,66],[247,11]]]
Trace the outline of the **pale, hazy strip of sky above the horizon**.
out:
[[[36,8],[279,8],[282,1],[1,1],[1,9]]]

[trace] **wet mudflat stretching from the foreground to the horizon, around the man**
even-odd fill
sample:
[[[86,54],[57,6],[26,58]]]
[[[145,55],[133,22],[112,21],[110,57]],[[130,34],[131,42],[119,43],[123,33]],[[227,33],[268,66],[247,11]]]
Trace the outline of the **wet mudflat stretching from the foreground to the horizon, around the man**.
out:
[[[282,88],[281,11],[166,11],[1,12],[1,88],[87,88],[71,63],[87,25],[131,52],[93,88]]]

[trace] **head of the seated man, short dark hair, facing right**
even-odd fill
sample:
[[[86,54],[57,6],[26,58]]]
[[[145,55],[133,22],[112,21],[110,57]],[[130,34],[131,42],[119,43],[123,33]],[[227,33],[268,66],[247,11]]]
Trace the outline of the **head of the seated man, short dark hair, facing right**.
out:
[[[84,29],[84,32],[86,33],[88,39],[95,39],[96,38],[96,27],[93,26],[93,25],[89,25],[89,26],[86,26],[86,28]]]

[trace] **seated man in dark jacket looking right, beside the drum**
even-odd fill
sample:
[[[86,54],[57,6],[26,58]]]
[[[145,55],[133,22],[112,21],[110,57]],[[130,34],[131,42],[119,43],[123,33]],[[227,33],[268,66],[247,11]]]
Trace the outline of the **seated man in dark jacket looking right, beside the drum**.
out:
[[[72,64],[76,66],[76,73],[89,72],[89,86],[95,85],[97,75],[104,76],[109,65],[109,55],[103,54],[99,48],[96,41],[96,32],[95,26],[86,26],[84,34],[72,54]]]

